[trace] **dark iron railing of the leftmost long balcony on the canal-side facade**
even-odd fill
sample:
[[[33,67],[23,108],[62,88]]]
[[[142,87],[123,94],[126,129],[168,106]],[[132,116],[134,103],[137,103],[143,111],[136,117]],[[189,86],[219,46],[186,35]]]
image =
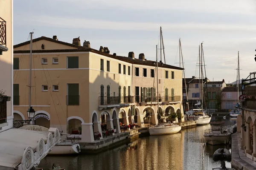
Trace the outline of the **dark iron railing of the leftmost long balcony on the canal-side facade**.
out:
[[[99,105],[119,105],[134,102],[134,96],[99,96]]]

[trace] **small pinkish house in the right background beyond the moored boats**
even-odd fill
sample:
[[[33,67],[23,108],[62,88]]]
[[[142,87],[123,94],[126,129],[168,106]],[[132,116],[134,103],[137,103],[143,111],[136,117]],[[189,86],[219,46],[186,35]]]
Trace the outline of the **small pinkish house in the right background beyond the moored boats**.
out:
[[[221,91],[221,110],[234,109],[237,104],[237,88],[225,87]]]

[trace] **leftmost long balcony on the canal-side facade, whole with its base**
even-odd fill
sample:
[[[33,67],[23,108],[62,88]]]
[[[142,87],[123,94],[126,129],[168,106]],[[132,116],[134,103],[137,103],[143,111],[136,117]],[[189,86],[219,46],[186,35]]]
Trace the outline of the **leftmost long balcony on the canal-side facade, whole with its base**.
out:
[[[99,96],[99,107],[110,108],[134,103],[134,96]]]

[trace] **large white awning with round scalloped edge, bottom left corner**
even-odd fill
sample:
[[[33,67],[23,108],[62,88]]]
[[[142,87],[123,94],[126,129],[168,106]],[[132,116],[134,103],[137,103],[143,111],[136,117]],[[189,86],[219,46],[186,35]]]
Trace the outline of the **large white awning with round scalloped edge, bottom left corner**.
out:
[[[58,144],[61,136],[55,132],[9,129],[0,133],[0,170],[30,170]]]

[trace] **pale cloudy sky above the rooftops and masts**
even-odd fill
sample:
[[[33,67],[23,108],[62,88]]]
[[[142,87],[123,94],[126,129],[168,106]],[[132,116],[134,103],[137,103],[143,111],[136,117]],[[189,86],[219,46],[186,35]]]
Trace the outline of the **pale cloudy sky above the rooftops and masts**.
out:
[[[97,50],[155,60],[160,26],[166,64],[180,65],[180,38],[187,78],[199,76],[201,42],[210,81],[236,81],[238,51],[240,77],[256,71],[256,0],[14,0],[14,44],[31,31],[69,43],[80,36]]]

